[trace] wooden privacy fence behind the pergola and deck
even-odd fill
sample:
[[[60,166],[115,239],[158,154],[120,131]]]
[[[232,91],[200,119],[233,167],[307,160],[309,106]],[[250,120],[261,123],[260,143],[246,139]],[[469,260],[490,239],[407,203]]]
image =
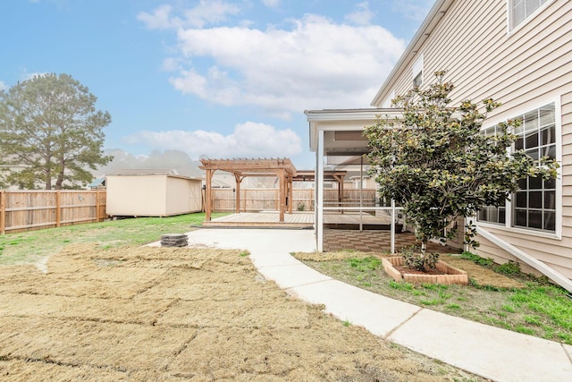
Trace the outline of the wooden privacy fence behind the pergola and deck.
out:
[[[360,191],[349,189],[343,191],[344,207],[358,206]],[[294,189],[292,191],[292,208],[296,210],[313,211],[315,190]],[[278,189],[242,189],[240,190],[240,211],[257,212],[264,210],[277,210],[279,208]],[[375,205],[376,191],[374,189],[363,190],[361,199],[364,206]],[[324,190],[324,202],[326,206],[339,206],[338,190]],[[236,191],[232,189],[213,189],[213,211],[232,212],[235,210]]]

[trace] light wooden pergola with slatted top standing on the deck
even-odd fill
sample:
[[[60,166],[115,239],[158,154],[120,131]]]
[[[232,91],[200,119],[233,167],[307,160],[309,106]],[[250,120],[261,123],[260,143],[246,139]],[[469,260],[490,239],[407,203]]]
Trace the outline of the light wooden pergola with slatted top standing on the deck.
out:
[[[201,170],[205,170],[205,220],[211,220],[213,197],[211,182],[216,170],[234,174],[236,180],[236,213],[240,213],[240,183],[247,176],[276,176],[280,184],[279,212],[280,222],[284,221],[284,212],[288,208],[292,213],[292,180],[296,175],[296,167],[288,158],[270,159],[201,159]],[[290,201],[288,201],[290,200]]]

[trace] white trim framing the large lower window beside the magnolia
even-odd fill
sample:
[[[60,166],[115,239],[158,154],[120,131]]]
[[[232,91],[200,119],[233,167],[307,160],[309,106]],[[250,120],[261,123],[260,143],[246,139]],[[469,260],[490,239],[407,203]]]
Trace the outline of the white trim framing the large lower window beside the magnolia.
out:
[[[517,113],[510,113],[511,116],[509,118],[514,118],[516,115],[525,115],[526,113],[534,110],[539,109],[542,106],[546,106],[549,104],[554,104],[554,128],[556,130],[556,160],[559,164],[562,163],[562,109],[560,103],[561,97],[558,98],[550,98],[546,99],[543,102],[528,107],[526,110],[522,110]],[[486,126],[481,127],[481,131],[494,126],[497,123],[506,122],[507,118],[498,119],[493,121],[492,123],[487,123]],[[491,229],[498,229],[501,231],[507,231],[511,233],[523,233],[530,236],[537,236],[537,237],[544,237],[549,239],[562,239],[562,166],[559,167],[557,170],[558,175],[556,177],[556,216],[555,216],[555,230],[553,233],[548,231],[540,231],[534,229],[526,229],[520,227],[513,227],[512,226],[512,200],[507,201],[506,203],[506,212],[505,212],[505,223],[498,224],[498,223],[487,223],[483,221],[476,220],[478,225],[483,225],[484,227],[488,227]]]

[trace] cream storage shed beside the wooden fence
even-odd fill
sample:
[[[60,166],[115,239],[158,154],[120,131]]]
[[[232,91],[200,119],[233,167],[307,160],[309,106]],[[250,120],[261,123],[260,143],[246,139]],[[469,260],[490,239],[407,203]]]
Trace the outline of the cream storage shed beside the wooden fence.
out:
[[[202,210],[202,181],[177,174],[107,175],[108,216],[174,216]]]

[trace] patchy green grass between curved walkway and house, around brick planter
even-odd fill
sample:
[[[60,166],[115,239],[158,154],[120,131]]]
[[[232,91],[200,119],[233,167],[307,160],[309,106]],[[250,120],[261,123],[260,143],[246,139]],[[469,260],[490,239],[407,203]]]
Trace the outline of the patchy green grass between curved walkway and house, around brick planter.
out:
[[[572,299],[558,286],[517,272],[514,264],[495,266],[489,259],[470,257],[480,267],[495,270],[526,285],[522,289],[469,285],[409,284],[388,276],[378,258],[309,261],[316,270],[345,283],[407,301],[425,309],[467,318],[494,327],[572,344]]]

